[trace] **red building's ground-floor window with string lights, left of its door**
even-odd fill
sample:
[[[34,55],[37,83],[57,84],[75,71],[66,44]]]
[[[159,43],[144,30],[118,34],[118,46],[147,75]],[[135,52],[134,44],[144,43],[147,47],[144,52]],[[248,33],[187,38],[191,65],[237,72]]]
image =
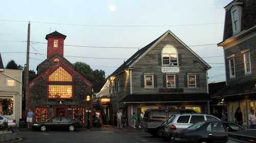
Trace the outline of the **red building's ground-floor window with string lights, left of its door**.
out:
[[[37,107],[35,108],[35,122],[45,122],[49,118],[49,108]]]

